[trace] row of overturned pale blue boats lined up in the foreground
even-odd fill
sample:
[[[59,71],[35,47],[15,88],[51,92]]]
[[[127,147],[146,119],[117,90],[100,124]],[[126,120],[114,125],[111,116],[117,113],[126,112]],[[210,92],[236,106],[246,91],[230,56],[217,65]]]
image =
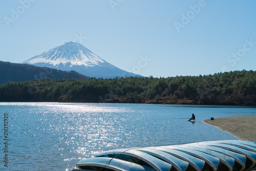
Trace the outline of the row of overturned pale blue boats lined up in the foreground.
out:
[[[80,160],[73,171],[243,171],[255,169],[255,164],[255,142],[220,140],[114,149]]]

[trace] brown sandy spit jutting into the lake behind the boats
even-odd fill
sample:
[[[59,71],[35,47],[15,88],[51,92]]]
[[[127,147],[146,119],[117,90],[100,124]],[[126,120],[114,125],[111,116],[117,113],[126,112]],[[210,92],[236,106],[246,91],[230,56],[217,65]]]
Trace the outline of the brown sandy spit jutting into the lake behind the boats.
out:
[[[215,118],[203,120],[203,122],[216,126],[240,140],[256,142],[256,117],[254,116]]]

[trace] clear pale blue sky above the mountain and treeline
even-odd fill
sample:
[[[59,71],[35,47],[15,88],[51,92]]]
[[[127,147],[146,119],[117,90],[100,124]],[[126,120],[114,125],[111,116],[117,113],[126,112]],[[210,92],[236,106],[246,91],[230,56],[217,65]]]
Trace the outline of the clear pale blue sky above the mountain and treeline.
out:
[[[0,60],[18,63],[77,41],[143,76],[256,70],[255,8],[252,0],[3,1]]]

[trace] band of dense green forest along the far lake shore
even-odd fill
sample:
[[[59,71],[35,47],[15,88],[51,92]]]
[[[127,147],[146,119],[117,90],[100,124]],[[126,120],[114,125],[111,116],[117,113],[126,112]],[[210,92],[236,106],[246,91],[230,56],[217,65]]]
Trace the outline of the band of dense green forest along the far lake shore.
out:
[[[111,102],[256,106],[256,71],[167,78],[44,79],[0,85],[2,102]]]

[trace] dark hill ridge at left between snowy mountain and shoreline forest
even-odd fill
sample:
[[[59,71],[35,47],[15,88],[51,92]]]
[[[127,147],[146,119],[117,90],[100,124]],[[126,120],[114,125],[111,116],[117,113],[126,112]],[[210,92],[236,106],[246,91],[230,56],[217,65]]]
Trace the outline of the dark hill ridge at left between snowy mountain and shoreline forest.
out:
[[[33,79],[89,78],[75,71],[61,71],[47,67],[0,61],[0,84],[8,81],[28,81]]]

